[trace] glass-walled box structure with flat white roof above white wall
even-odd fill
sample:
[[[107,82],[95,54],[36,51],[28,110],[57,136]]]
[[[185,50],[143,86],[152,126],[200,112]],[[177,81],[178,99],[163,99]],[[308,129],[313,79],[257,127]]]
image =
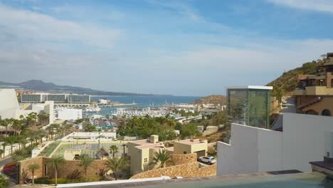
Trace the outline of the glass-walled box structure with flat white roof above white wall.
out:
[[[231,122],[270,129],[270,86],[228,88],[228,117]]]

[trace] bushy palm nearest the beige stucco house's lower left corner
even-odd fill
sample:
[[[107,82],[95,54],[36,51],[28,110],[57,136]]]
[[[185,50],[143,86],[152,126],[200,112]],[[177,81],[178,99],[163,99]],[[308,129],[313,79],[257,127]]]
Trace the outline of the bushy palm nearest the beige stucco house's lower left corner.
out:
[[[124,157],[107,157],[105,165],[108,170],[112,170],[113,177],[115,177],[115,180],[117,180],[120,172],[122,172],[124,169],[127,169],[128,162],[125,160]]]

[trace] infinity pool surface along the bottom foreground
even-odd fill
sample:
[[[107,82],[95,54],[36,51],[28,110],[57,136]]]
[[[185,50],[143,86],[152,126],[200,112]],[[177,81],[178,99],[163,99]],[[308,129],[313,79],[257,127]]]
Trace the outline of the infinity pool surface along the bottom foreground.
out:
[[[72,187],[72,186],[70,186]],[[75,187],[75,186],[73,186]],[[254,174],[235,174],[213,177],[195,177],[184,179],[157,180],[150,182],[129,182],[121,184],[99,184],[82,187],[94,188],[118,188],[118,187],[141,187],[141,188],[328,188],[333,187],[333,182],[329,182],[324,174],[319,172],[297,173],[297,174],[270,174],[268,172]]]

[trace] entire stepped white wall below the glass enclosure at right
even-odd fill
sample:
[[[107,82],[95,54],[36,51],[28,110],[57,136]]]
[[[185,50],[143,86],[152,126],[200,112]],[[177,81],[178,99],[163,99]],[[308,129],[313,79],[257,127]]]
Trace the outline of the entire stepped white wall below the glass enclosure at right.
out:
[[[246,125],[231,126],[231,145],[218,142],[217,174],[298,169],[325,155],[324,135],[333,131],[333,117],[283,114],[283,132]]]

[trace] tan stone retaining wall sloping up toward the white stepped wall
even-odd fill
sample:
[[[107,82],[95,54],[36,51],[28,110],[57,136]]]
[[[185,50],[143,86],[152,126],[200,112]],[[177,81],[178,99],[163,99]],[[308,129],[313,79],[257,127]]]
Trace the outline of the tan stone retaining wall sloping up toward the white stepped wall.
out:
[[[207,167],[199,168],[198,162],[191,162],[188,164],[181,164],[163,169],[153,169],[146,172],[135,174],[130,179],[142,179],[148,177],[206,177],[216,175],[216,164]]]

